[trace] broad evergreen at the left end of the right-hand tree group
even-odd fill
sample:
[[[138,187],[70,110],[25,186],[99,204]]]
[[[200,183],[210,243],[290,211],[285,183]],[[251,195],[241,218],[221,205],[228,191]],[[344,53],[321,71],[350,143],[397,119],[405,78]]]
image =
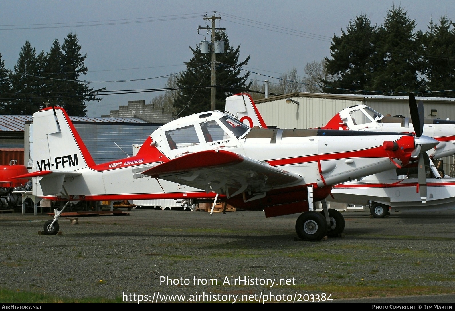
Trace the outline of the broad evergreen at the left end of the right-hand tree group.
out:
[[[325,58],[327,76],[326,93],[352,93],[351,90],[366,90],[379,60],[375,53],[376,26],[371,25],[367,15],[358,15],[341,35],[334,35],[330,54]],[[341,90],[340,90],[341,89]],[[343,90],[346,89],[346,90]],[[354,91],[355,92],[355,91]]]

